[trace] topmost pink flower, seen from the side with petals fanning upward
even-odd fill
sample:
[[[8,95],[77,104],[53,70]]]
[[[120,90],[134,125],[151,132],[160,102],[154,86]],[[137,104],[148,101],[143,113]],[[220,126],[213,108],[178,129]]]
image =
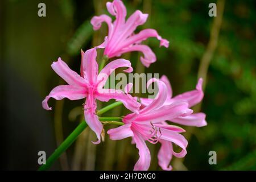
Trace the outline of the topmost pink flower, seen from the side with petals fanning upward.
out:
[[[141,51],[144,55],[144,57],[141,57],[142,64],[149,67],[151,63],[156,61],[156,56],[150,47],[142,45],[141,42],[147,38],[156,37],[160,40],[160,46],[169,46],[168,40],[162,39],[154,29],[145,29],[138,34],[134,34],[135,29],[146,22],[148,14],[143,14],[137,10],[126,20],[126,7],[122,1],[107,2],[106,7],[109,13],[115,16],[114,23],[105,14],[94,16],[90,21],[94,30],[100,29],[102,22],[108,24],[109,32],[104,55],[111,58],[121,56],[122,53],[126,52]]]

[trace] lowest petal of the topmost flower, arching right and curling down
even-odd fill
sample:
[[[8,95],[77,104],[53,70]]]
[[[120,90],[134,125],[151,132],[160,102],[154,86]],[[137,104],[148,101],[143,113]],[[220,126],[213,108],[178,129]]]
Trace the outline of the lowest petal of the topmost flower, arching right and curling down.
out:
[[[145,45],[134,45],[134,46],[126,47],[116,52],[112,52],[108,56],[109,57],[120,56],[123,53],[132,52],[132,51],[139,51],[143,53],[144,57],[141,57],[141,61],[142,61],[142,64],[147,68],[150,66],[151,63],[154,63],[156,61],[155,53],[151,50],[150,47]]]

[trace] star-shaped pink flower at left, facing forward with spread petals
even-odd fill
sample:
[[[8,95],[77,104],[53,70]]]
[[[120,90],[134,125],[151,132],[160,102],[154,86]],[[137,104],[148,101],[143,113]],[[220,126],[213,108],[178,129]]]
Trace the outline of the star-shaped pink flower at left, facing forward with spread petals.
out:
[[[96,133],[98,138],[95,144],[100,143],[100,134],[102,131],[102,124],[98,120],[96,113],[96,100],[107,102],[110,99],[122,101],[123,105],[134,111],[138,112],[140,104],[136,98],[131,97],[129,94],[121,92],[121,90],[104,89],[103,86],[110,75],[116,68],[128,67],[125,72],[132,72],[131,63],[125,59],[117,59],[106,65],[98,75],[98,64],[96,61],[96,48],[89,49],[86,52],[81,51],[81,76],[72,71],[67,64],[60,58],[53,62],[52,69],[63,78],[68,85],[56,86],[51,90],[48,96],[43,100],[42,105],[46,110],[51,110],[47,102],[49,98],[61,100],[68,98],[69,100],[80,100],[86,98],[84,104],[85,121],[89,127]]]

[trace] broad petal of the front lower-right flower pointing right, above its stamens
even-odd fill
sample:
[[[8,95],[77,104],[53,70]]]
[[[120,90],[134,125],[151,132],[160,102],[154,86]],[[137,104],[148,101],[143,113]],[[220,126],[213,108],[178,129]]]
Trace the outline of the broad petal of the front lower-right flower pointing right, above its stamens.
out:
[[[160,107],[157,110],[151,111],[150,113],[139,115],[136,121],[139,122],[162,122],[171,121],[176,117],[189,115],[193,110],[188,109],[188,103],[185,101],[175,101],[170,105]]]

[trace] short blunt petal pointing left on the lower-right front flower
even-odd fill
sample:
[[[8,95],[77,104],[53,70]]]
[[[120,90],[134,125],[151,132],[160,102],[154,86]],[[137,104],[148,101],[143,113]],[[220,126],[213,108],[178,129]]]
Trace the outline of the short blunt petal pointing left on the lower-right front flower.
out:
[[[131,124],[116,127],[108,131],[109,137],[112,140],[121,140],[127,137],[133,137],[133,131],[131,131]]]

